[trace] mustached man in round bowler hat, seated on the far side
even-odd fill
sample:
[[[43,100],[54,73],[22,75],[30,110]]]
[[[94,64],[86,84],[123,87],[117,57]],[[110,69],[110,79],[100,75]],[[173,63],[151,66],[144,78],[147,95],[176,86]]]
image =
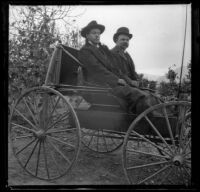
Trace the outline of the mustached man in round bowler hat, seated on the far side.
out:
[[[137,87],[138,81],[135,65],[131,56],[126,51],[131,38],[132,34],[129,33],[129,29],[127,27],[120,27],[113,36],[113,41],[116,43],[116,46],[111,49],[111,52],[116,58],[115,64],[118,69],[118,74],[129,85]]]

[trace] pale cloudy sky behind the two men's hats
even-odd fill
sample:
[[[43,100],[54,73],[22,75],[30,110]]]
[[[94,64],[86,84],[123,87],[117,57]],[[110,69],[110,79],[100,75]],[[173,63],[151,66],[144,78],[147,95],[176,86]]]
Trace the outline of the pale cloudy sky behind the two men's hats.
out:
[[[115,46],[113,35],[119,27],[128,27],[133,38],[127,51],[136,71],[164,75],[173,64],[180,67],[184,44],[186,4],[177,5],[106,5],[78,6],[85,10],[76,21],[78,28],[92,20],[105,26],[101,42]],[[184,65],[191,60],[191,4],[187,5],[187,31]],[[173,67],[172,67],[173,68]]]

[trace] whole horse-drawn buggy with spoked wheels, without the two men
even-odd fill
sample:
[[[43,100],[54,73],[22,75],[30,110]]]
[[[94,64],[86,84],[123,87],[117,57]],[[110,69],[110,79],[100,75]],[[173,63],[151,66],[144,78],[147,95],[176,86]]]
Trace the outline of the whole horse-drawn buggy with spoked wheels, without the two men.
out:
[[[54,180],[70,172],[81,144],[104,154],[121,148],[130,184],[190,185],[191,103],[160,102],[133,114],[110,88],[84,86],[83,67],[78,50],[57,45],[45,84],[13,105],[9,138],[21,167]]]

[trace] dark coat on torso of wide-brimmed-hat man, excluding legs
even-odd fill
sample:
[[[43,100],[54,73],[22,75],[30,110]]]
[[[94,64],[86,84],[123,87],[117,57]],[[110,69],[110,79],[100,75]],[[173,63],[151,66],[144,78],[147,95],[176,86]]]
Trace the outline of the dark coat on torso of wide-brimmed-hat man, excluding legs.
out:
[[[83,76],[86,82],[105,87],[116,87],[119,77],[113,73],[113,62],[105,45],[97,48],[89,43],[79,51],[79,60],[84,64]]]

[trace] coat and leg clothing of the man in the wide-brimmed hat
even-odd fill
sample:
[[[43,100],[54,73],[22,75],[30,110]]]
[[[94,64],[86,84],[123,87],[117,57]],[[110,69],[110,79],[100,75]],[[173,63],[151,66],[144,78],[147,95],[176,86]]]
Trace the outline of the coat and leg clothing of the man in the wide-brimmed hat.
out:
[[[106,46],[100,45],[100,48],[97,48],[90,44],[84,45],[79,51],[79,60],[84,65],[83,76],[86,82],[112,88],[111,93],[126,101],[127,106],[134,108],[139,100],[148,96],[140,89],[118,85],[118,79],[121,77],[115,71],[112,54]],[[145,108],[147,107],[149,106]]]

